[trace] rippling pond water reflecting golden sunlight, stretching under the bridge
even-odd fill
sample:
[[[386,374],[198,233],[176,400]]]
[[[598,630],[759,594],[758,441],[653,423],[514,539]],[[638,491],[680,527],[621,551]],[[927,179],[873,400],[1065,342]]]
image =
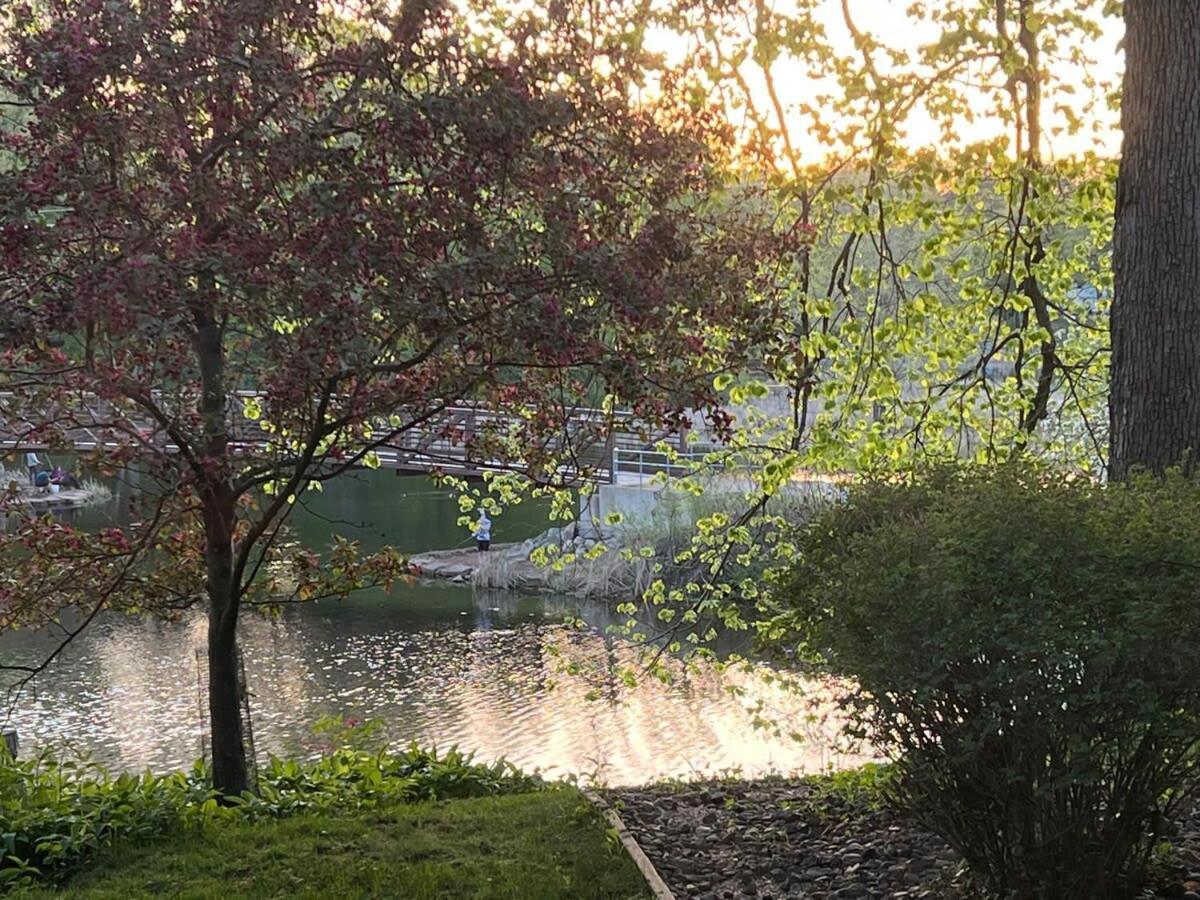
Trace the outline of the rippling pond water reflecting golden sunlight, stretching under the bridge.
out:
[[[118,496],[114,505],[124,502]],[[314,546],[331,533],[407,552],[468,538],[454,498],[425,479],[362,473],[330,485],[311,506],[298,530]],[[496,540],[544,526],[544,510],[512,510],[496,522]],[[568,617],[590,628],[568,628]],[[611,784],[846,762],[809,725],[806,703],[751,673],[680,671],[671,684],[623,685],[619,670],[636,660],[605,632],[614,622],[601,604],[422,583],[290,607],[276,619],[246,616],[257,754],[318,752],[313,724],[338,715],[378,719],[396,744],[457,744],[480,758]],[[7,727],[19,731],[23,752],[67,748],[120,769],[190,766],[203,749],[204,634],[200,614],[94,623],[17,698]],[[0,660],[36,659],[53,640],[5,635]],[[756,728],[756,707],[808,739]]]

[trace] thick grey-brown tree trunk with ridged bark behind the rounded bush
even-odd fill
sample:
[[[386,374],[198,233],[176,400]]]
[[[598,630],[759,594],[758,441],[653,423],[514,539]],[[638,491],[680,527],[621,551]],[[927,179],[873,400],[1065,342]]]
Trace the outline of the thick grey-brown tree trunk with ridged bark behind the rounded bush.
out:
[[[1196,469],[1200,2],[1126,0],[1109,474]]]

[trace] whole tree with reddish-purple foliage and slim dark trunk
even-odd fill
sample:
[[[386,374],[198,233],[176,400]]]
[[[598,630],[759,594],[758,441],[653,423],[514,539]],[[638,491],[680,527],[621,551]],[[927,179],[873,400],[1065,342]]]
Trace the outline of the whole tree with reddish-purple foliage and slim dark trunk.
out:
[[[472,452],[553,482],[612,428],[562,437],[584,397],[677,421],[715,400],[712,367],[767,306],[776,241],[712,199],[713,121],[668,84],[634,103],[620,41],[552,12],[10,12],[0,90],[28,118],[2,133],[2,302],[65,343],[5,352],[6,415],[42,410],[36,431],[61,442],[86,426],[116,444],[97,464],[155,487],[127,529],[6,535],[5,624],[205,604],[222,792],[248,785],[242,607],[278,601],[272,572],[300,599],[403,574],[347,544],[284,558],[304,491],[463,400],[509,414]],[[238,389],[259,396],[236,409]],[[262,436],[239,440],[239,419]]]

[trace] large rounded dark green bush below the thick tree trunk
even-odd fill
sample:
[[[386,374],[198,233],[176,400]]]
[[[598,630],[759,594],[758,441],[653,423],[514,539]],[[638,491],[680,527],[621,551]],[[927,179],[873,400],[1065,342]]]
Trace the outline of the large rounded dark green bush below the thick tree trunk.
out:
[[[1198,786],[1200,484],[1025,467],[864,484],[775,634],[846,677],[893,798],[998,896],[1135,893]]]

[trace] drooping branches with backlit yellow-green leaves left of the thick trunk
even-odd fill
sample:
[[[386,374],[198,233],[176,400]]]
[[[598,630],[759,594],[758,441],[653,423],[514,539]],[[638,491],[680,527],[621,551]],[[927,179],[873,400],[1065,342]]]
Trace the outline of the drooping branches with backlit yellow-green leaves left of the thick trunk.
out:
[[[894,32],[870,0],[652,6],[799,247],[757,370],[719,382],[732,439],[682,461],[682,487],[725,492],[643,598],[661,628],[630,602],[629,634],[655,653],[718,628],[770,642],[762,588],[798,552],[805,472],[1022,454],[1103,472],[1109,4],[913,2]]]

